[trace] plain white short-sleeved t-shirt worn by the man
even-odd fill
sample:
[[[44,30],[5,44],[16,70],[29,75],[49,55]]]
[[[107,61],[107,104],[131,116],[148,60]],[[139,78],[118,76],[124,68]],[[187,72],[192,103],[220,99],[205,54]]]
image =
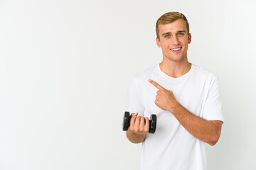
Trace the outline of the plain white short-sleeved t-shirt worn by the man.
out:
[[[178,103],[206,120],[224,121],[220,87],[215,74],[196,65],[182,77],[173,78],[159,64],[133,77],[129,89],[129,112],[150,118],[156,114],[156,132],[142,142],[142,170],[206,169],[205,143],[193,137],[174,115],[154,103],[156,89],[148,79],[174,92]]]

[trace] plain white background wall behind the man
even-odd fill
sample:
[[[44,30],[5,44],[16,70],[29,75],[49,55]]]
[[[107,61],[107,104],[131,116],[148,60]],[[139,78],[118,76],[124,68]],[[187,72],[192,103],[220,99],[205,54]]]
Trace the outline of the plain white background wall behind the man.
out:
[[[139,169],[122,131],[129,81],[161,62],[155,23],[188,18],[188,59],[220,77],[208,169],[256,169],[253,1],[0,1],[0,169]]]

